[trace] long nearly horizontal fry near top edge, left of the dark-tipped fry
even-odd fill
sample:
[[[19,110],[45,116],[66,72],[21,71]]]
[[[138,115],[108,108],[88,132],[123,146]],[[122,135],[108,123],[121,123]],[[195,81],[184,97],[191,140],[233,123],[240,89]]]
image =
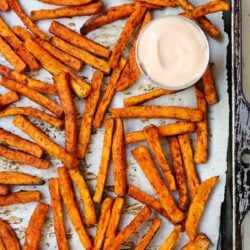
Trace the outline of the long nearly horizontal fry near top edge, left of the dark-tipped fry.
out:
[[[88,5],[69,6],[58,9],[34,10],[31,11],[31,19],[33,21],[43,19],[56,19],[62,17],[85,16],[99,13],[103,9],[102,2],[96,2]]]

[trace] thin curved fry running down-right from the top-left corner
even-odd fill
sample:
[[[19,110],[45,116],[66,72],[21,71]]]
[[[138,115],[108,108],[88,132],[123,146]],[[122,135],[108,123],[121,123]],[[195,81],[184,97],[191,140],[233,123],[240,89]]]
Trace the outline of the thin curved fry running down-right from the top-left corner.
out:
[[[8,0],[9,5],[12,10],[19,16],[22,22],[30,29],[34,34],[38,37],[49,40],[49,36],[45,34],[42,30],[40,30],[30,19],[30,17],[24,12],[21,5],[19,4],[18,0]]]

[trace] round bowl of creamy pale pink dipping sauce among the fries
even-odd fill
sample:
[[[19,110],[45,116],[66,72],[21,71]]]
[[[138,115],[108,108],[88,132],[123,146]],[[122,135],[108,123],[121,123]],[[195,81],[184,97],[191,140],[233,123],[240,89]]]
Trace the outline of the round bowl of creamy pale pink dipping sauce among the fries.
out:
[[[205,34],[182,16],[152,21],[137,42],[137,63],[143,74],[168,89],[183,89],[197,82],[208,61]]]

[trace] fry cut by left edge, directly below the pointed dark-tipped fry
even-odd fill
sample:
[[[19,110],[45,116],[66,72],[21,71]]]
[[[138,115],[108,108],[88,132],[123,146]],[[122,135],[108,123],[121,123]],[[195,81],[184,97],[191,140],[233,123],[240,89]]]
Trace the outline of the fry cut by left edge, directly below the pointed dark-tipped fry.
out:
[[[7,195],[0,196],[0,206],[8,206],[12,204],[28,203],[40,201],[41,193],[39,191],[19,191]]]

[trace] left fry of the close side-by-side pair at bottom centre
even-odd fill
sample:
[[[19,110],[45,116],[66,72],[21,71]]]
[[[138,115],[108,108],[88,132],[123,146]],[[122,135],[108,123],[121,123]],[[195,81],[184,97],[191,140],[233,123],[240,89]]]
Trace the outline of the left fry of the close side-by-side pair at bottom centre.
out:
[[[97,225],[97,231],[93,247],[94,250],[102,249],[105,233],[109,225],[112,205],[113,200],[110,197],[106,198],[101,205],[101,214]]]

